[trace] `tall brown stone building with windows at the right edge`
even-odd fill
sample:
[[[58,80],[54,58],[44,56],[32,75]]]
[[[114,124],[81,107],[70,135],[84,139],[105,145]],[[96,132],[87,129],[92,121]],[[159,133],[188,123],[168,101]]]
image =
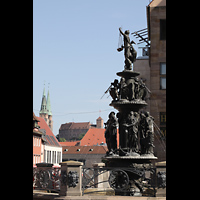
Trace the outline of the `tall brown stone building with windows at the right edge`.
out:
[[[148,39],[150,64],[150,113],[166,137],[166,0],[153,0],[147,6]],[[158,161],[166,160],[165,141],[155,143]]]

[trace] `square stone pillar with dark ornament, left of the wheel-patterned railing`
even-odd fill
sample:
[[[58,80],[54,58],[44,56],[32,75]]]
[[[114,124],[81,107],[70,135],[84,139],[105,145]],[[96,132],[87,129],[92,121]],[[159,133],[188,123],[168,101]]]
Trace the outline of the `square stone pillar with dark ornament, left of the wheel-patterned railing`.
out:
[[[82,196],[82,162],[65,161],[61,165],[60,196]]]

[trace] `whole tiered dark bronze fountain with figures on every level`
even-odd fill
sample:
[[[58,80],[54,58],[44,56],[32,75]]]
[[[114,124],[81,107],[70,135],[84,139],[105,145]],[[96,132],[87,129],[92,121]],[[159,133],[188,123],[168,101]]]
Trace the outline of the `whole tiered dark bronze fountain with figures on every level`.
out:
[[[105,93],[109,91],[112,101],[109,104],[118,112],[111,112],[105,123],[105,139],[108,152],[103,158],[107,167],[115,170],[110,175],[110,185],[118,190],[143,192],[145,171],[152,170],[154,156],[154,118],[143,110],[147,106],[146,95],[151,91],[133,70],[137,52],[134,42],[130,42],[129,31],[124,33],[124,44],[117,50],[124,50],[124,70],[117,72],[120,80],[115,79]],[[119,147],[117,147],[117,129],[119,130]],[[123,184],[122,184],[123,183]],[[121,185],[120,185],[121,184]],[[134,189],[133,189],[134,188]],[[126,190],[127,191],[127,190]]]

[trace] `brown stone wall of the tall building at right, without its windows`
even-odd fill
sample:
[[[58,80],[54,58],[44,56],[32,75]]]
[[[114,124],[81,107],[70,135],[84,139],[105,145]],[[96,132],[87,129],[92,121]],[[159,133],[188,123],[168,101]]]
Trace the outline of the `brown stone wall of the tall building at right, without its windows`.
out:
[[[160,113],[166,112],[166,90],[160,89],[160,63],[166,62],[166,40],[160,40],[160,20],[166,19],[166,6],[150,7],[150,114],[160,127]],[[154,149],[158,161],[166,160],[161,141],[155,140]]]

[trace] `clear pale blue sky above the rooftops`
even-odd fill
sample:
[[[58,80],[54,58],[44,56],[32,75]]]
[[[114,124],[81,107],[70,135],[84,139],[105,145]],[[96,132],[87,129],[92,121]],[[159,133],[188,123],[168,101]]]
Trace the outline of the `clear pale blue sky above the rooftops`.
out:
[[[33,0],[33,112],[49,90],[53,133],[69,122],[104,122],[112,98],[104,92],[124,70],[119,27],[147,28],[149,0]],[[130,34],[136,43],[137,38]],[[141,55],[139,45],[134,45]],[[137,62],[137,61],[136,61]]]

